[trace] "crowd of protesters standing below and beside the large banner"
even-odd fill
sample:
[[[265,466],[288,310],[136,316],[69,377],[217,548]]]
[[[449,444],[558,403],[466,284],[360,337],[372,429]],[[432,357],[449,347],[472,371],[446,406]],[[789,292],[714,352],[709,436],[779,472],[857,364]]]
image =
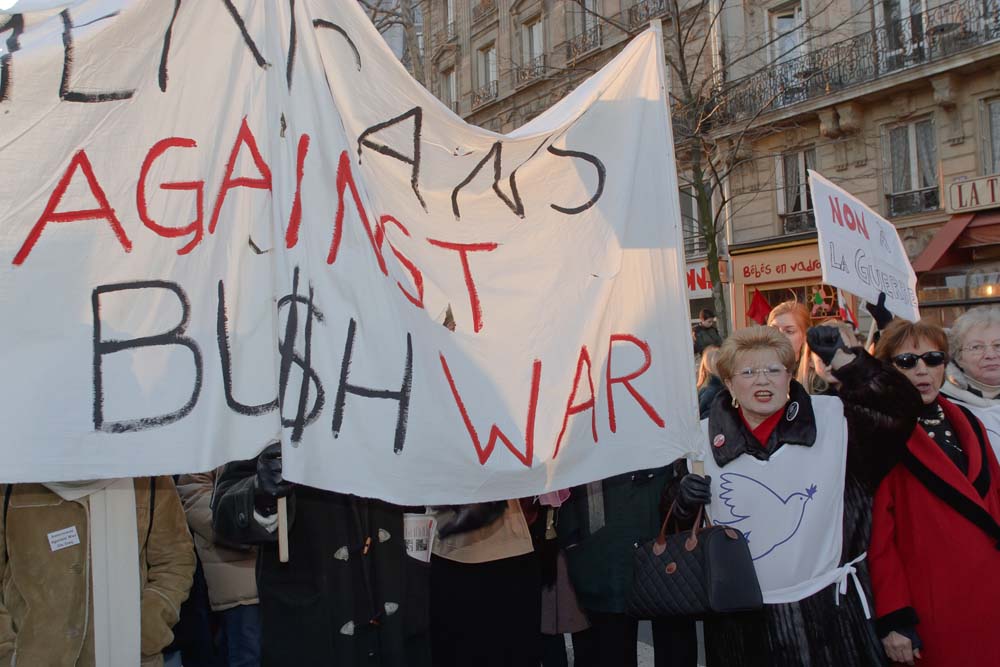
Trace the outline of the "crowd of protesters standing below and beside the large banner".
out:
[[[801,303],[725,339],[703,311],[704,474],[399,507],[289,483],[275,443],[176,480],[7,485],[0,665],[563,667],[568,636],[578,667],[634,666],[635,549],[704,508],[764,598],[702,619],[709,667],[1000,665],[1000,307],[948,332],[869,310],[868,348]],[[650,620],[657,667],[694,667],[695,619]]]

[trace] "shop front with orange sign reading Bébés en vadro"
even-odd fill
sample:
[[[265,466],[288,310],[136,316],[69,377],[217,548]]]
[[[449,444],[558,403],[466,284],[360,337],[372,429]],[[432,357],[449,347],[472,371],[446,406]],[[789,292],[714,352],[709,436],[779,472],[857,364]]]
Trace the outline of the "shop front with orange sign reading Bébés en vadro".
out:
[[[775,243],[755,242],[729,246],[733,281],[733,324],[755,324],[747,315],[755,290],[771,307],[782,301],[806,304],[814,323],[838,313],[837,290],[824,285],[816,237]],[[848,305],[856,310],[854,299]]]

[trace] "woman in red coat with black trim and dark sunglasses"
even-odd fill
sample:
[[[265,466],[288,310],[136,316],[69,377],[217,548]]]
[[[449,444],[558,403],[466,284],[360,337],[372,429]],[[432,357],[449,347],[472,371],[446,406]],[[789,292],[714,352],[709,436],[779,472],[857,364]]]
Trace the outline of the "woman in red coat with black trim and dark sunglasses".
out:
[[[979,420],[938,393],[947,349],[940,327],[895,320],[875,350],[924,402],[875,495],[875,624],[896,663],[1000,665],[1000,465]]]

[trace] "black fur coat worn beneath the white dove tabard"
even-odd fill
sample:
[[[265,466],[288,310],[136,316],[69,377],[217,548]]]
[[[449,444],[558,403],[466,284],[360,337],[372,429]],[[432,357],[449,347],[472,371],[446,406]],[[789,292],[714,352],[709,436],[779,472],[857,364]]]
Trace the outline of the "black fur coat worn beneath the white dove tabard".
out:
[[[841,564],[865,552],[871,535],[872,497],[881,479],[902,457],[921,401],[913,385],[888,364],[857,348],[858,358],[836,372],[847,419],[847,477],[844,485]],[[732,407],[728,390],[720,392],[709,417],[710,435],[721,432],[725,445],[713,448],[725,466],[742,454],[767,460],[783,446],[812,446],[815,419],[805,389],[792,382],[790,400],[803,408],[794,421],[781,420],[763,447]],[[676,494],[667,490],[667,502]],[[858,578],[871,604],[867,561]],[[886,664],[882,644],[854,585],[836,604],[833,587],[789,604],[766,605],[752,614],[705,621],[708,667],[868,667]]]

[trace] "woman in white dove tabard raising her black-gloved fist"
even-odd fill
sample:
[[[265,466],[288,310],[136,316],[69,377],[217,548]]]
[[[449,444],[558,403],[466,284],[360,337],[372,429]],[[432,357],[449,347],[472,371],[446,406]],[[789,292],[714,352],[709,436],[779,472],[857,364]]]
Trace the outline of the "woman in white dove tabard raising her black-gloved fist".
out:
[[[808,330],[840,395],[810,396],[793,379],[795,350],[772,327],[727,339],[725,389],[702,422],[705,476],[684,475],[665,501],[689,522],[747,536],[761,612],[705,621],[709,667],[868,667],[885,654],[867,620],[871,498],[916,423],[920,399],[902,375],[833,327]]]

